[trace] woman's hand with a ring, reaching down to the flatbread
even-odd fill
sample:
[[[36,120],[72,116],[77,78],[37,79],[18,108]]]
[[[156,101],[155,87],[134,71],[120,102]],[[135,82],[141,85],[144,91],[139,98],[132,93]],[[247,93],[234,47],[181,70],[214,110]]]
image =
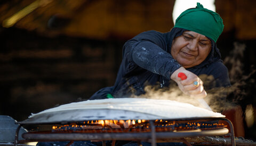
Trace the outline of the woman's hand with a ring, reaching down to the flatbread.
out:
[[[178,77],[178,74],[180,72],[183,72],[187,76],[187,79],[181,80],[181,78]],[[186,70],[183,67],[175,70],[171,75],[171,79],[178,84],[180,90],[183,93],[190,95],[193,98],[202,99],[205,98],[207,95],[204,90],[202,80],[197,75],[193,74],[192,72]],[[197,82],[199,85],[195,86],[194,82]]]

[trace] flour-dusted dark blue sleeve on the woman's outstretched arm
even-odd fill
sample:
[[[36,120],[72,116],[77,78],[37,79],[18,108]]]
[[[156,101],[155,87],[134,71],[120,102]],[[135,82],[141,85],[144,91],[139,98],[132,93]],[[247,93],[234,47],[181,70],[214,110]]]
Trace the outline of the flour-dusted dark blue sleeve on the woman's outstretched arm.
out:
[[[170,79],[172,73],[181,66],[166,52],[170,49],[167,47],[164,37],[154,31],[134,37],[124,45],[123,58],[130,64],[127,70],[135,64]]]

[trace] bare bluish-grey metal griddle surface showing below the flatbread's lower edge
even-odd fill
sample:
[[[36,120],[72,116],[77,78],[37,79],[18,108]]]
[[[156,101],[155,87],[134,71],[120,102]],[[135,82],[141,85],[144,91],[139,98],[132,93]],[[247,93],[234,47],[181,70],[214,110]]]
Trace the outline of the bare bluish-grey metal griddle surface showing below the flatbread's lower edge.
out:
[[[20,121],[19,124],[53,124],[67,123],[83,120],[127,120],[127,119],[161,119],[163,117],[150,115],[141,112],[114,109],[81,109],[81,110],[65,110],[48,113],[41,113],[34,117]]]

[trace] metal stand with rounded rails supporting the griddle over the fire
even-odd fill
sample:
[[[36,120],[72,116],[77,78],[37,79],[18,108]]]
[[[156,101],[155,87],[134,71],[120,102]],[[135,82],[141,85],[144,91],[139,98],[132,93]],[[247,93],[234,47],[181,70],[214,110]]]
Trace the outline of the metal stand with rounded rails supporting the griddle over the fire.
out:
[[[227,121],[230,127],[230,133],[227,128],[211,129],[201,132],[156,132],[154,120],[149,120],[151,132],[143,133],[50,133],[50,134],[34,134],[34,133],[23,133],[22,137],[28,141],[82,141],[82,140],[102,140],[102,145],[106,140],[148,140],[151,141],[151,145],[155,146],[157,139],[173,139],[183,137],[195,137],[195,136],[230,136],[231,145],[235,144],[234,127],[230,120],[226,118],[193,118],[193,119],[180,119],[181,120],[223,120]],[[172,119],[170,119],[172,120]],[[177,120],[177,119],[175,119]],[[19,125],[15,134],[14,145],[16,146],[19,142],[18,134],[22,124]],[[183,142],[189,144],[185,139]]]

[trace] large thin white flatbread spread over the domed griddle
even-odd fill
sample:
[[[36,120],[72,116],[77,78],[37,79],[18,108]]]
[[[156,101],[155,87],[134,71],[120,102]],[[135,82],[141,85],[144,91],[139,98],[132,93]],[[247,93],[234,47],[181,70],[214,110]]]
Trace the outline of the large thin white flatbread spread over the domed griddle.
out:
[[[155,100],[141,98],[120,98],[120,99],[103,99],[103,100],[87,100],[82,102],[74,102],[63,104],[62,106],[44,110],[42,112],[31,115],[33,118],[46,113],[58,113],[61,111],[77,111],[77,110],[124,110],[138,113],[145,113],[162,117],[163,119],[180,119],[180,118],[207,118],[207,117],[225,117],[221,113],[209,111],[207,109],[195,107],[189,103],[181,103],[171,100]],[[93,115],[93,113],[92,113]],[[111,115],[106,115],[106,117]],[[127,115],[126,115],[127,116]],[[85,116],[86,117],[86,116]]]

